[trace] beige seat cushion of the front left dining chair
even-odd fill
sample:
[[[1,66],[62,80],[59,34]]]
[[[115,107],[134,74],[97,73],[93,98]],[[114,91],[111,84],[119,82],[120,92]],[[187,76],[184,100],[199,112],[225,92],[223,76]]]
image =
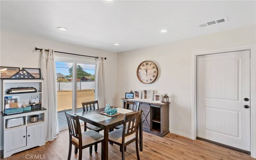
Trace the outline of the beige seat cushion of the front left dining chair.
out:
[[[92,144],[94,142],[98,142],[100,140],[103,140],[104,137],[98,132],[95,132],[93,130],[89,130],[82,133],[82,145],[86,146],[88,144]],[[72,137],[71,139],[73,142],[79,145],[78,139],[75,137]]]

